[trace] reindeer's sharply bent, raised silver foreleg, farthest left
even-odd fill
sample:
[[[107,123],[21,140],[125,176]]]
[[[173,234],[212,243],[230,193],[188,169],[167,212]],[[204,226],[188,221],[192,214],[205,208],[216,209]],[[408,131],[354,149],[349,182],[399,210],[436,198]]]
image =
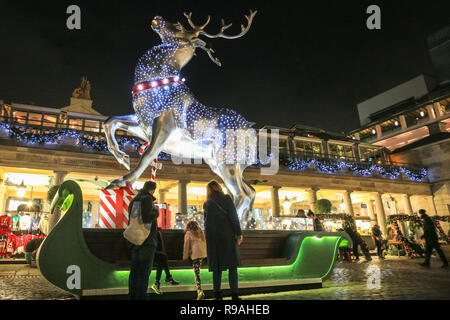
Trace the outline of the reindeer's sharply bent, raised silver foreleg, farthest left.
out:
[[[125,152],[120,150],[119,144],[117,143],[115,137],[116,130],[118,129],[134,134],[144,141],[148,141],[149,138],[139,126],[135,114],[110,117],[103,123],[103,130],[105,131],[109,152],[114,155],[120,164],[130,170],[130,157]]]

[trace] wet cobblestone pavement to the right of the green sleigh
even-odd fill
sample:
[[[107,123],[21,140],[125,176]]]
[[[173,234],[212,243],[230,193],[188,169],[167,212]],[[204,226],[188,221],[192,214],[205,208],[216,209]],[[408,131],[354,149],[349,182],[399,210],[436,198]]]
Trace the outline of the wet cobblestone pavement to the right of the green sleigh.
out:
[[[364,259],[362,259],[364,260]],[[433,258],[431,268],[423,259],[387,257],[371,262],[338,262],[323,288],[258,294],[243,299],[261,300],[450,300],[450,269]],[[379,268],[379,269],[378,269]],[[379,272],[377,272],[377,269]],[[379,274],[379,282],[372,280]],[[368,285],[368,279],[369,281]]]

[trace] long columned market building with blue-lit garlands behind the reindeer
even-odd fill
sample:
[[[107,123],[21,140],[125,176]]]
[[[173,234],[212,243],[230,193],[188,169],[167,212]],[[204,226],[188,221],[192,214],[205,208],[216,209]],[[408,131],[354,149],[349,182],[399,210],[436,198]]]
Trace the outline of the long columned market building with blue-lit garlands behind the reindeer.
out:
[[[39,204],[47,212],[49,187],[71,179],[83,190],[83,226],[100,227],[100,189],[126,173],[107,150],[106,119],[88,96],[73,95],[62,109],[2,101],[0,212],[15,212],[23,203]],[[384,228],[387,215],[439,208],[427,166],[399,163],[383,145],[303,125],[262,129],[269,142],[271,130],[279,130],[280,168],[275,175],[261,175],[256,166],[245,171],[256,190],[255,219],[315,211],[318,199],[328,199],[332,212],[359,218],[358,228],[368,233],[374,223]],[[136,165],[140,142],[121,132],[118,141]],[[167,155],[160,155],[159,163],[158,202],[167,203],[172,213],[201,213],[205,186],[217,176],[205,164],[177,165]],[[149,179],[149,171],[136,188]],[[171,219],[173,225],[176,215]]]

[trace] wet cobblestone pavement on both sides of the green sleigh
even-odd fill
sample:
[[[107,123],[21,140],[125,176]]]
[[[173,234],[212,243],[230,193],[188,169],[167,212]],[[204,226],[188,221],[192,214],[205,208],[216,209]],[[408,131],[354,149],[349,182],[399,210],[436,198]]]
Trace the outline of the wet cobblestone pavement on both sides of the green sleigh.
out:
[[[350,299],[446,299],[450,300],[450,269],[432,259],[431,269],[419,266],[422,259],[388,257],[372,262],[336,264],[321,289],[243,296],[244,300],[350,300]],[[377,269],[379,268],[379,269]],[[377,270],[379,270],[377,272]],[[371,281],[369,277],[379,282]],[[379,286],[378,286],[379,285]],[[26,265],[0,265],[0,300],[73,299],[45,280],[36,268]]]

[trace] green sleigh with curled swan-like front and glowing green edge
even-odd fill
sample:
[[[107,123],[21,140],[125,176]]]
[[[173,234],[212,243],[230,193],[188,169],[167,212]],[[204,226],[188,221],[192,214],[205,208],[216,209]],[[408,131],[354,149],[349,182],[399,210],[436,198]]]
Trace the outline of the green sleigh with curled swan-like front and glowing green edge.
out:
[[[57,203],[67,211],[39,250],[37,264],[42,275],[53,285],[79,298],[125,296],[128,293],[129,270],[101,260],[86,244],[81,227],[82,192],[78,184],[65,181],[59,188],[52,207]],[[241,267],[238,269],[239,287],[248,292],[268,292],[274,288],[292,290],[308,284],[310,287],[321,287],[322,280],[333,270],[339,246],[350,247],[351,244],[351,239],[345,232],[289,232],[284,248],[287,263]],[[181,297],[190,297],[188,293],[195,291],[192,269],[172,269],[171,273],[180,285],[162,287],[163,291],[182,294],[184,291]],[[155,272],[152,272],[149,283],[154,281],[154,277]],[[210,287],[212,273],[207,268],[202,269],[201,279],[204,287]],[[223,283],[226,282],[224,273]]]

